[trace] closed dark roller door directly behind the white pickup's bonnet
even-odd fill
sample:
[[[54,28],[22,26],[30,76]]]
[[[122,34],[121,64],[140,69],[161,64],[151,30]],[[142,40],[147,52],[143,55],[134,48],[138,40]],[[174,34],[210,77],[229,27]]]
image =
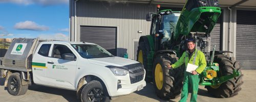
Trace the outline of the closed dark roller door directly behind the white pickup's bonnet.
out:
[[[116,32],[116,27],[81,26],[80,41],[96,43],[116,56]]]

